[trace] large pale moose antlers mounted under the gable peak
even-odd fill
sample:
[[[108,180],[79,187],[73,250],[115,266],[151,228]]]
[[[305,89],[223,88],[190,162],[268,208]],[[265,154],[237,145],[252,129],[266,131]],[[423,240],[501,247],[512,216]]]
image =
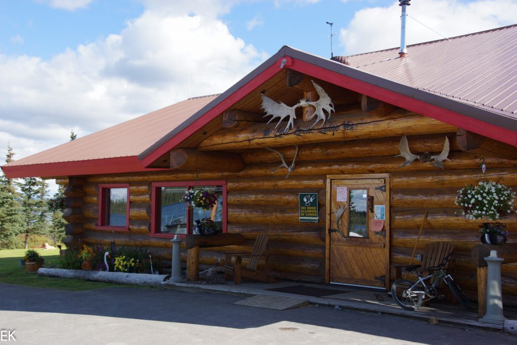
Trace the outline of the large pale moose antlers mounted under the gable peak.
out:
[[[307,118],[307,120],[311,120],[314,118],[314,116],[317,116],[316,122],[314,122],[314,124],[312,126],[315,126],[316,123],[318,123],[320,120],[322,120],[323,123],[322,123],[321,127],[323,127],[325,125],[325,122],[327,121],[327,119],[330,118],[330,113],[332,111],[334,111],[334,104],[332,103],[332,100],[330,99],[330,97],[328,97],[325,90],[323,90],[323,88],[320,85],[314,83],[314,81],[312,81],[312,80],[311,80],[311,82],[312,82],[312,85],[314,85],[314,89],[316,90],[318,96],[320,96],[320,99],[318,99],[317,101],[308,101],[306,99],[301,99],[295,105],[288,106],[283,102],[275,102],[263,94],[262,95],[262,109],[264,109],[264,111],[266,112],[266,115],[264,115],[264,117],[271,116],[271,118],[269,119],[269,121],[267,123],[271,122],[273,119],[278,117],[278,118],[280,118],[280,120],[278,121],[277,126],[275,126],[275,128],[277,128],[278,125],[280,124],[280,122],[282,122],[283,119],[288,116],[289,120],[287,121],[287,126],[285,126],[285,129],[284,129],[284,131],[286,132],[290,129],[290,127],[294,128],[293,121],[294,121],[294,119],[296,119],[296,114],[295,114],[296,108],[300,107],[300,106],[305,107],[305,106],[312,105],[316,110],[309,118]],[[326,111],[328,113],[328,117],[325,116],[324,111]]]

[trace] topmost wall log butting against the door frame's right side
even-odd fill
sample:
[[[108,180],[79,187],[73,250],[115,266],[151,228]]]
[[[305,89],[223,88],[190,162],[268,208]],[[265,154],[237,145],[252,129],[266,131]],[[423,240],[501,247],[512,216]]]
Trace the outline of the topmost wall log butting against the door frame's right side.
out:
[[[479,164],[478,164],[479,165]],[[495,168],[485,172],[484,178],[504,183],[506,185],[517,185],[517,169]],[[434,170],[433,172],[422,171],[407,174],[407,172],[394,172],[391,176],[390,186],[395,189],[409,188],[443,188],[443,187],[464,187],[477,184],[480,179],[480,169],[469,169],[463,171]]]

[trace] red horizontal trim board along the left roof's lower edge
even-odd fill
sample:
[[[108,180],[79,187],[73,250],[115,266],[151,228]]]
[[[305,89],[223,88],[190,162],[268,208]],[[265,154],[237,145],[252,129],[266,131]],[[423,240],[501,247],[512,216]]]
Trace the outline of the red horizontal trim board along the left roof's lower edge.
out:
[[[167,170],[160,168],[144,168],[136,156],[104,158],[87,161],[13,165],[4,166],[2,169],[4,170],[7,178],[23,178],[32,176],[57,177]],[[38,175],[34,175],[34,171],[37,171]]]

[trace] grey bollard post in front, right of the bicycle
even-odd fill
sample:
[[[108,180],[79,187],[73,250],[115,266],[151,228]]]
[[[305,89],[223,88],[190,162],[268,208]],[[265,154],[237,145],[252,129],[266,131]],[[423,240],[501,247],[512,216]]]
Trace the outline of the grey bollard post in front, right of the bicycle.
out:
[[[497,250],[490,250],[490,256],[484,258],[488,264],[486,279],[486,314],[480,322],[501,325],[505,323],[503,315],[503,292],[501,289],[501,263],[504,259],[497,257]]]

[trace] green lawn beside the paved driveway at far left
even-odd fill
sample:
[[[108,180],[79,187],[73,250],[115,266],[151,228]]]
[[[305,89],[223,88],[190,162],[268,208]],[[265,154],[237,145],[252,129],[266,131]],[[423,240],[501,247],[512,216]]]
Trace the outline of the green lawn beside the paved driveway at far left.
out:
[[[45,258],[45,267],[59,267],[59,249],[36,250]],[[0,250],[0,283],[68,291],[92,290],[120,286],[117,284],[101,283],[99,281],[43,277],[38,276],[36,273],[27,273],[25,267],[20,266],[20,259],[23,258],[24,254],[25,249]]]

